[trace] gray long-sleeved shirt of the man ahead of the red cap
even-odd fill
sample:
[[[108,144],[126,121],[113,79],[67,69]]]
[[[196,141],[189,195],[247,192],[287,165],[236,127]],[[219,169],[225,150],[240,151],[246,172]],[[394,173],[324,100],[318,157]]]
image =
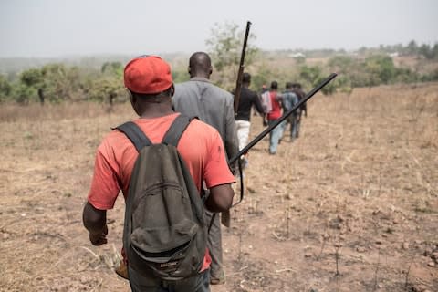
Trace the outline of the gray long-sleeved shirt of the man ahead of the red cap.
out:
[[[239,148],[231,93],[214,86],[207,78],[191,78],[175,85],[172,103],[174,110],[196,116],[214,127],[224,141],[227,158],[235,157]]]

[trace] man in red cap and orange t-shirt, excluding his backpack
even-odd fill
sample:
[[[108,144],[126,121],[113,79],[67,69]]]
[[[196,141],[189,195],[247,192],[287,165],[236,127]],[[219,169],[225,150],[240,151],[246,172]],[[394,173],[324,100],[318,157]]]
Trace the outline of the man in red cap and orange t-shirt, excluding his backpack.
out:
[[[179,115],[172,110],[174,92],[169,65],[160,57],[138,57],[128,63],[124,82],[130,91],[130,103],[140,116],[133,120],[152,143],[159,143],[172,121]],[[214,149],[214,151],[210,151]],[[198,191],[202,183],[210,189],[205,202],[213,212],[228,210],[234,192],[224,154],[224,144],[217,130],[200,120],[192,120],[183,132],[177,150],[193,176]],[[120,190],[126,199],[131,171],[138,156],[132,142],[119,130],[113,130],[100,143],[96,152],[94,175],[83,211],[83,222],[93,245],[107,243],[107,210],[113,208]],[[211,263],[205,251],[203,266],[197,276],[179,281],[166,281],[153,275],[143,275],[129,266],[132,291],[210,291],[208,269]]]

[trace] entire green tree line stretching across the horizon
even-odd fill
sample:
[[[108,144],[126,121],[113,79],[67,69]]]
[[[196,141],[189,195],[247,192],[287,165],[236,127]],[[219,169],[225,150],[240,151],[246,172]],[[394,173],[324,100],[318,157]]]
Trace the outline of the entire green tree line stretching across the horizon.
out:
[[[243,30],[233,23],[216,25],[211,37],[206,40],[214,61],[212,80],[218,86],[232,91],[235,87]],[[261,89],[272,80],[279,84],[298,82],[305,89],[316,86],[330,72],[339,77],[322,89],[329,95],[337,91],[350,92],[354,88],[374,87],[381,84],[412,83],[438,80],[438,44],[417,45],[414,41],[407,46],[381,46],[360,48],[355,55],[345,51],[318,50],[327,53],[328,60],[322,64],[310,64],[306,55],[316,51],[304,51],[304,56],[291,57],[282,53],[263,52],[252,43],[250,35],[246,52],[245,68],[252,74],[252,87]],[[436,61],[434,69],[424,72],[417,67],[396,66],[391,54],[413,56],[417,64],[424,59]],[[175,83],[188,80],[185,68],[172,68]],[[47,64],[39,68],[28,68],[15,76],[0,75],[0,102],[16,101],[59,103],[71,101],[97,101],[112,104],[127,100],[123,87],[123,64],[105,62],[100,69],[67,66],[62,63]]]

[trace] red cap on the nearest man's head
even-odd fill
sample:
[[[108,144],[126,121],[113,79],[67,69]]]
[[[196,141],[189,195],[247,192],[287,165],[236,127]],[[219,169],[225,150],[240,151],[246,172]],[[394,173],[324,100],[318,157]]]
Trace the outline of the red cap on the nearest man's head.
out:
[[[160,93],[172,86],[171,67],[161,57],[136,57],[124,72],[125,87],[136,93]]]

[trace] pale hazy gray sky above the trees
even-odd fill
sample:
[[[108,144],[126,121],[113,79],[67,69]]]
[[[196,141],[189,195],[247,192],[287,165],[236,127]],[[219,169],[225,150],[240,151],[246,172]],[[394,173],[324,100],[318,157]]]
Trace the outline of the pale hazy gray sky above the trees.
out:
[[[0,0],[0,57],[192,53],[246,20],[263,49],[438,42],[437,0]]]

